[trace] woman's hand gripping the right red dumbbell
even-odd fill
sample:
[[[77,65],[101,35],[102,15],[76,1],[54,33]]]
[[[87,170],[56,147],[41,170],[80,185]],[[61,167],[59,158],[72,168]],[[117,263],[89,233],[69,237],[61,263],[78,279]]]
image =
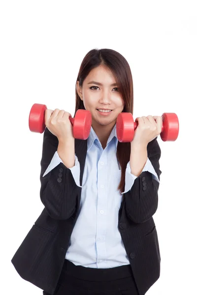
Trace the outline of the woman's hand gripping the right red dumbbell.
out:
[[[132,145],[148,145],[162,132],[163,121],[160,116],[137,117],[135,121],[138,122],[138,125],[134,131]]]

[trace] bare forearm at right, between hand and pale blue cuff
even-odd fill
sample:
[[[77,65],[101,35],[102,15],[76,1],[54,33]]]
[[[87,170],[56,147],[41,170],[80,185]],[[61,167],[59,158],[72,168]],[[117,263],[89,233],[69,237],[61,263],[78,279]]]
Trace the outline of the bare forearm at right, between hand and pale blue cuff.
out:
[[[135,145],[131,142],[130,167],[133,175],[138,177],[141,174],[147,158],[147,145]]]

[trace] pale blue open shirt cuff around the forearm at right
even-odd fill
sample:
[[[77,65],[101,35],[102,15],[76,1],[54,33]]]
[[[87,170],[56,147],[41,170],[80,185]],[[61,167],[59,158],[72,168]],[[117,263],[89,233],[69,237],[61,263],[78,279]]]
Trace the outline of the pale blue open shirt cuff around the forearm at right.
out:
[[[142,172],[144,172],[144,171],[148,171],[148,172],[152,173],[153,178],[156,179],[160,183],[157,173],[155,172],[155,169],[154,169],[151,161],[149,160],[149,158],[147,158]],[[127,163],[127,168],[126,168],[126,172],[125,172],[125,191],[121,194],[125,194],[129,190],[131,190],[131,187],[132,187],[134,180],[136,178],[137,178],[137,176],[135,176],[131,173],[131,167],[130,167],[130,161],[129,161]]]

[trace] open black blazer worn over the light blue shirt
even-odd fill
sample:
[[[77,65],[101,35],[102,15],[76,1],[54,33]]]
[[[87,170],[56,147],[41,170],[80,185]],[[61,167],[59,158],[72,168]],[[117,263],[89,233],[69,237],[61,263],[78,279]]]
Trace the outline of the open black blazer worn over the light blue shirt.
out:
[[[44,209],[11,260],[23,279],[51,295],[62,271],[81,197],[81,187],[75,184],[70,169],[63,163],[42,177],[57,148],[57,137],[46,128],[40,162],[40,199]],[[157,137],[148,143],[147,152],[160,179],[161,149]],[[87,140],[75,139],[75,153],[82,185]],[[124,194],[119,209],[119,231],[139,295],[144,295],[160,277],[160,249],[152,217],[158,207],[158,189],[159,182],[152,174],[142,172]]]

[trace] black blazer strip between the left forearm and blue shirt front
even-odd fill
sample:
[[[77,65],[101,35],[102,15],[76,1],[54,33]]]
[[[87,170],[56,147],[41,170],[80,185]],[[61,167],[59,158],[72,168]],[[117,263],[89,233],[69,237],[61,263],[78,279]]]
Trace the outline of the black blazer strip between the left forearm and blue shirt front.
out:
[[[75,139],[75,154],[78,158],[79,164],[80,164],[80,178],[79,182],[82,186],[82,179],[83,179],[83,172],[84,172],[84,166],[85,166],[85,160],[86,160],[86,154],[87,154],[87,143],[88,140],[81,140],[81,139]]]

